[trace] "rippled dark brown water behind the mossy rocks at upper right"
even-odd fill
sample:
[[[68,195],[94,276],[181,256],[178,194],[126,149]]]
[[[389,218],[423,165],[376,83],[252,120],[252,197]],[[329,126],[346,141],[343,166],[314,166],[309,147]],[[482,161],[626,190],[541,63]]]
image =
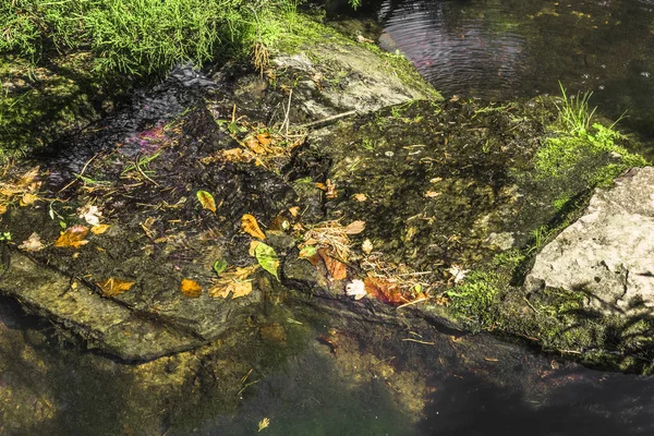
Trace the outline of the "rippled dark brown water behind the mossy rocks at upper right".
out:
[[[383,45],[445,96],[559,94],[560,81],[654,140],[654,1],[391,0],[378,15]]]

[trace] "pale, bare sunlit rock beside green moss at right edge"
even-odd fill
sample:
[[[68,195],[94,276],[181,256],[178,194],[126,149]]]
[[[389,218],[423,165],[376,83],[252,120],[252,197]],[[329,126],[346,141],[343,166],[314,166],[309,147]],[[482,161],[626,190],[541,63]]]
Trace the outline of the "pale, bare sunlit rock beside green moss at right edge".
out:
[[[584,215],[536,256],[526,287],[583,292],[590,308],[642,315],[654,307],[654,168],[598,189]]]

